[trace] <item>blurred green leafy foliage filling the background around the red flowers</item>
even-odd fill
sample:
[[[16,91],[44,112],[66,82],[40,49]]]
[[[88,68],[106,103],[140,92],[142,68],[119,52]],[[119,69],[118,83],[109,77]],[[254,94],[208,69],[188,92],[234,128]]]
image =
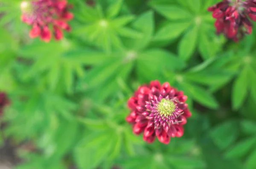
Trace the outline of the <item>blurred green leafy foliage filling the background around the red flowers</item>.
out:
[[[37,149],[17,149],[16,168],[256,169],[256,35],[215,35],[218,1],[69,0],[73,30],[44,43],[29,39],[19,0],[0,0],[0,90],[12,101],[2,132]],[[125,122],[128,98],[155,79],[192,111],[168,145]]]

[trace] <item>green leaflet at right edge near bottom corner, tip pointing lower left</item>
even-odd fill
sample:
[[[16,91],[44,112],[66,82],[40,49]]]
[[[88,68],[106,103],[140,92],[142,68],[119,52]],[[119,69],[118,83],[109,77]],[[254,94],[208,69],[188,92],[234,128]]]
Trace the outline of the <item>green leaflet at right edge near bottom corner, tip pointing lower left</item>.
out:
[[[256,147],[256,137],[251,137],[240,141],[231,149],[227,150],[225,156],[227,158],[241,158],[246,155],[253,147]]]

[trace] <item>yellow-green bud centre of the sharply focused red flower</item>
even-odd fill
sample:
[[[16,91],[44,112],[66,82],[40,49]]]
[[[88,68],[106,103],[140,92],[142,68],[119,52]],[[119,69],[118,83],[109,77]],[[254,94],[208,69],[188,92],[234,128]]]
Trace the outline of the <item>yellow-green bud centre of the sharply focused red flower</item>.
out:
[[[176,104],[169,99],[161,99],[157,104],[157,111],[160,115],[173,115],[176,110]]]

